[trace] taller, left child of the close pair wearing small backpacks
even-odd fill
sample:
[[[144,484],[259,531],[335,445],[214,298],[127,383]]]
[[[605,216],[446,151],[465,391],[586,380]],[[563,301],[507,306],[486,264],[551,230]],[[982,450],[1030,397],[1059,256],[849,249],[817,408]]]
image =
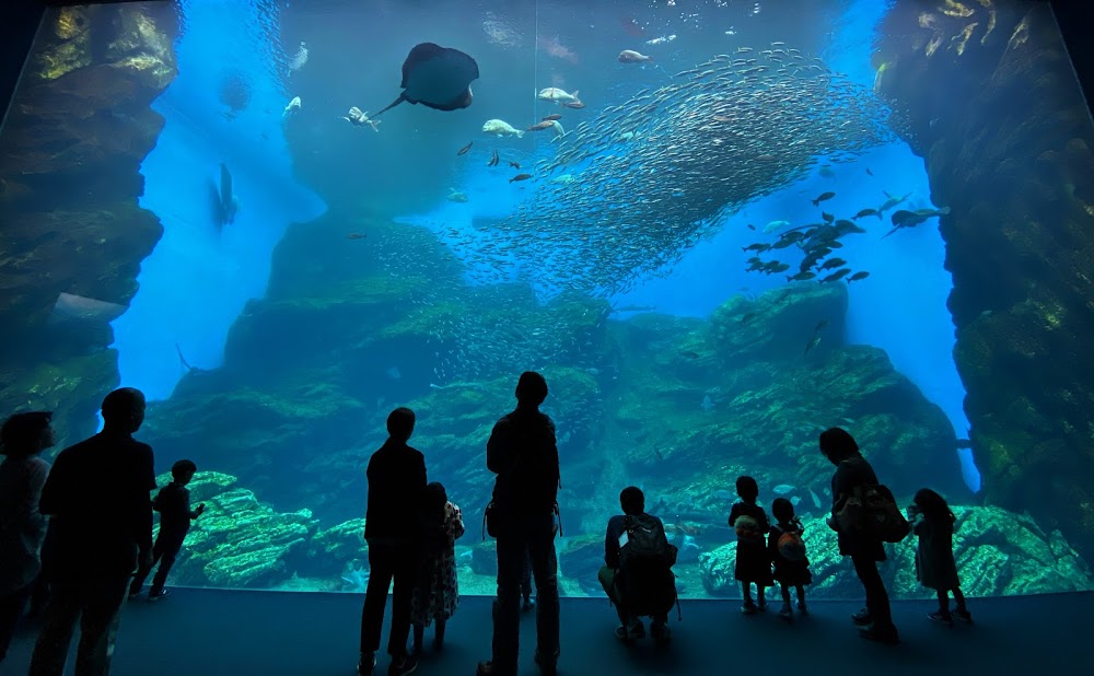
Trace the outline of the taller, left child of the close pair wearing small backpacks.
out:
[[[741,611],[752,615],[757,609],[767,608],[764,587],[775,584],[771,578],[771,559],[764,539],[770,529],[770,524],[764,509],[756,504],[759,498],[756,479],[737,477],[737,496],[741,502],[735,503],[730,510],[730,527],[737,533],[737,559],[733,576],[741,582],[741,593],[744,596]],[[753,583],[756,584],[756,603],[752,599]]]

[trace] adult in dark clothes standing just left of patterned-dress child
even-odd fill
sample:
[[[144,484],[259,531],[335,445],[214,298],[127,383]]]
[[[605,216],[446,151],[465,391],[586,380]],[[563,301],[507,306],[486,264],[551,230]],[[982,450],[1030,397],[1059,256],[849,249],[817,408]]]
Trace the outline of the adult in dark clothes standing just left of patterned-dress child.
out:
[[[387,654],[391,676],[409,674],[418,666],[407,654],[410,636],[410,598],[421,557],[421,510],[426,493],[426,457],[407,445],[415,416],[397,408],[387,417],[387,441],[369,461],[369,511],[364,539],[369,543],[369,588],[361,610],[361,661],[357,671],[366,676],[376,667],[380,629],[384,623],[387,590],[392,592],[392,633]]]

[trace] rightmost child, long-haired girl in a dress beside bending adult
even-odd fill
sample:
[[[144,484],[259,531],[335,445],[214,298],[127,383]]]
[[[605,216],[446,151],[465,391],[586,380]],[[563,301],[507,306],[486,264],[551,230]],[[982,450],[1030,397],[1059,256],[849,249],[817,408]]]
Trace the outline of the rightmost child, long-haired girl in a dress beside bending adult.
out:
[[[973,621],[973,616],[965,607],[965,595],[962,594],[957,580],[957,563],[954,561],[954,522],[957,518],[950,511],[945,499],[929,488],[916,492],[915,504],[908,508],[908,516],[912,522],[912,533],[919,536],[919,547],[916,549],[916,579],[929,590],[939,594],[939,609],[929,613],[928,618],[943,625],[953,625],[950,615],[950,592],[954,594],[957,608],[954,615]]]

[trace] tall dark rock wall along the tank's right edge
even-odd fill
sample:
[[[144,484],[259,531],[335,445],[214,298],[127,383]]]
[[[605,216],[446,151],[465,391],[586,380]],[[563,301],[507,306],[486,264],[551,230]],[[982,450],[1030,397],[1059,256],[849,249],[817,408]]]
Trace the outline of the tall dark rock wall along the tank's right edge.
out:
[[[1094,557],[1094,127],[1045,4],[896,4],[877,92],[940,220],[973,451],[993,504]],[[924,92],[962,92],[959,96]]]

